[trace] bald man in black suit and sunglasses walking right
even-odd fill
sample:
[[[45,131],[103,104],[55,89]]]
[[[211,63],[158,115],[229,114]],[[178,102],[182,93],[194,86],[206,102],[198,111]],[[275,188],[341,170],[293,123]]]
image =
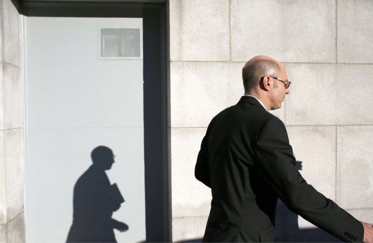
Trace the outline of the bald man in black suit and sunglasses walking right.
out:
[[[211,188],[203,242],[273,242],[277,198],[295,213],[346,242],[372,242],[360,222],[302,178],[284,124],[269,110],[289,94],[284,66],[269,57],[248,61],[245,95],[208,125],[195,177]]]

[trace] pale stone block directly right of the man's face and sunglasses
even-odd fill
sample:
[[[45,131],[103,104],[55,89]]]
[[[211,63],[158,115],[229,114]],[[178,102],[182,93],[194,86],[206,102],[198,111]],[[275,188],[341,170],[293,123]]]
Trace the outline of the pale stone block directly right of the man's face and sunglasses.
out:
[[[287,125],[372,124],[371,64],[288,63]],[[353,82],[352,82],[353,80]]]

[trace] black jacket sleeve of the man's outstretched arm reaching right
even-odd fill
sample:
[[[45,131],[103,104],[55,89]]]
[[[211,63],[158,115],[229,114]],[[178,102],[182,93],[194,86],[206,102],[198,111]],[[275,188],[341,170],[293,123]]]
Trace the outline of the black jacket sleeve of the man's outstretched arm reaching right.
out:
[[[293,212],[345,242],[363,242],[361,222],[309,185],[295,167],[284,124],[273,118],[257,137],[255,163],[280,199]]]

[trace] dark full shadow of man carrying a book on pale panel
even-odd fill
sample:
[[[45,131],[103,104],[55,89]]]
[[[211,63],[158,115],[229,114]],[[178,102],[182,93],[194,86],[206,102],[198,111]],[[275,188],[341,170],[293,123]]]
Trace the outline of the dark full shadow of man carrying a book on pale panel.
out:
[[[116,183],[110,184],[105,173],[115,162],[110,148],[98,146],[91,153],[93,165],[74,186],[73,224],[66,242],[116,242],[114,229],[128,226],[111,218],[124,199]]]

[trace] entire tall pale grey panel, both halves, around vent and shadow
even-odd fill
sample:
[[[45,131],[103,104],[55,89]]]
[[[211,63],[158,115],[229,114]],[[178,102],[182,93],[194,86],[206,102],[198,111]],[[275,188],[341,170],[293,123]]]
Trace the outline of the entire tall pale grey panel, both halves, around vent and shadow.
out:
[[[74,186],[92,166],[91,152],[99,145],[115,155],[115,163],[100,175],[109,185],[116,183],[125,199],[108,219],[129,227],[111,234],[117,242],[146,239],[143,62],[98,60],[97,31],[102,26],[142,29],[142,19],[26,17],[29,242],[66,242],[73,223]],[[83,187],[80,194],[98,190],[93,182],[102,177],[92,177],[88,186],[93,188]],[[87,208],[102,199],[83,197],[90,199]],[[107,225],[97,226],[97,232]]]

